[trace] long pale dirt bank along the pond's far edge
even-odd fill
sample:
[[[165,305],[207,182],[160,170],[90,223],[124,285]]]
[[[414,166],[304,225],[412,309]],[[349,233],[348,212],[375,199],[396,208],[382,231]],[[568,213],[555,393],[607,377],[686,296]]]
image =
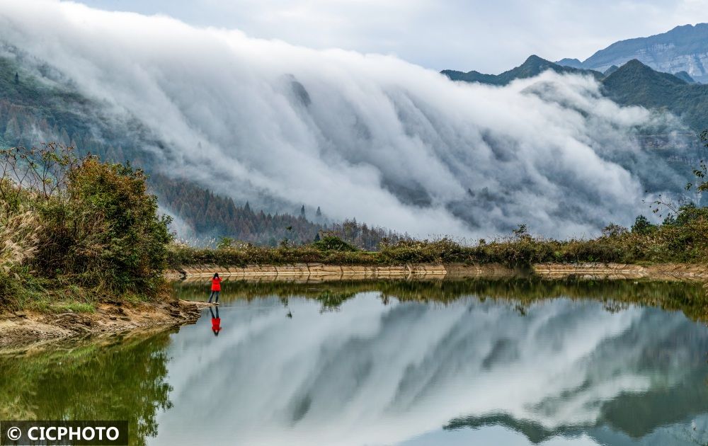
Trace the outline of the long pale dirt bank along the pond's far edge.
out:
[[[371,279],[441,279],[441,278],[518,278],[537,275],[547,279],[648,279],[648,280],[702,280],[708,281],[704,265],[627,265],[624,263],[542,263],[530,268],[509,268],[490,263],[484,265],[323,265],[297,263],[294,265],[249,265],[221,267],[198,265],[173,270],[172,279],[205,280],[219,273],[227,280],[288,280],[326,282],[329,280]]]

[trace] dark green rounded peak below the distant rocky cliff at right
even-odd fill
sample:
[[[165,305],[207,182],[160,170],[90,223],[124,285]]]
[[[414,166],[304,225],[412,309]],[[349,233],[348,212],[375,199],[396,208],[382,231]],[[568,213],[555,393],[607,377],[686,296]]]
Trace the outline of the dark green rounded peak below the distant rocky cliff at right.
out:
[[[636,59],[602,82],[605,95],[621,105],[668,110],[696,132],[708,128],[708,85],[688,84]]]

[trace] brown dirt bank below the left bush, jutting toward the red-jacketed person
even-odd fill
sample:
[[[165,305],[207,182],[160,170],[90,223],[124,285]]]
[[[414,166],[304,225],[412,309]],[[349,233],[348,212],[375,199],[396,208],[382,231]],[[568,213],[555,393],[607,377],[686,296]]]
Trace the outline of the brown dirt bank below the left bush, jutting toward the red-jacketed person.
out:
[[[0,310],[0,353],[40,348],[79,336],[192,324],[208,304],[173,300],[139,304],[103,303],[93,313],[61,314]]]

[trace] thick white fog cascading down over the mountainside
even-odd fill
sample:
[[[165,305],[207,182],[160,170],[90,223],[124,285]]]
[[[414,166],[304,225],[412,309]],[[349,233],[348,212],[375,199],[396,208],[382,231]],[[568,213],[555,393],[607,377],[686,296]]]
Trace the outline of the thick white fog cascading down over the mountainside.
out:
[[[634,137],[668,118],[581,76],[455,84],[395,57],[53,0],[4,0],[0,39],[143,122],[164,173],[275,210],[416,236],[591,236],[681,183]]]

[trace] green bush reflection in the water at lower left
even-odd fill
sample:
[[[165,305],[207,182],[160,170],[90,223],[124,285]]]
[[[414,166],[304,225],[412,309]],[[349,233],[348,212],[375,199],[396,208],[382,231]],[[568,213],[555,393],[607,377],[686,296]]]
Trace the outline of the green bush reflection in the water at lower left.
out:
[[[131,445],[158,432],[169,410],[169,333],[113,336],[0,356],[0,419],[128,420]]]

